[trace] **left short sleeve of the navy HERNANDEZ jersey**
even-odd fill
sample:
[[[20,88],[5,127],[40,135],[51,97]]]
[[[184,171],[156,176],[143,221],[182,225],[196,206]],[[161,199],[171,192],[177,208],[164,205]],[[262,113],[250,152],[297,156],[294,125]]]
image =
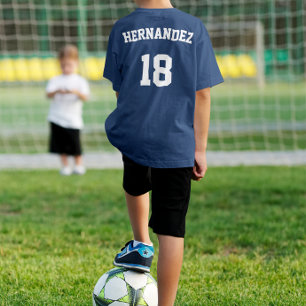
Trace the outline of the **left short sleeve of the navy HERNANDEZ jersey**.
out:
[[[120,91],[122,76],[118,59],[118,48],[114,39],[114,29],[112,29],[108,40],[103,77],[113,83],[115,91]]]

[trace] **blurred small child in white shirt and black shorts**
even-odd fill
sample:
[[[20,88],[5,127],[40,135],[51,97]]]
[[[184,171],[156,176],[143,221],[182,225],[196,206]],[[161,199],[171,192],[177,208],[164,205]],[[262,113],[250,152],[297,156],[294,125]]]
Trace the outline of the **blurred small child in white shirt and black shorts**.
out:
[[[90,90],[88,82],[76,73],[78,59],[77,47],[64,46],[59,52],[62,74],[52,78],[46,87],[47,97],[52,99],[48,115],[49,151],[60,155],[62,175],[82,175],[86,171],[82,160],[80,131],[84,126],[83,102],[88,99]],[[69,166],[69,155],[74,156],[73,169]]]

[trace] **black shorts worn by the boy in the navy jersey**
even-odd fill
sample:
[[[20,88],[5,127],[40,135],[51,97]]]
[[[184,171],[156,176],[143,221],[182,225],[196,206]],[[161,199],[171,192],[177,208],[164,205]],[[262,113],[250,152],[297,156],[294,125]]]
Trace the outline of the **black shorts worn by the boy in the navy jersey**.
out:
[[[184,237],[193,167],[152,168],[139,165],[124,154],[122,160],[124,190],[133,196],[152,190],[149,226],[153,232]]]

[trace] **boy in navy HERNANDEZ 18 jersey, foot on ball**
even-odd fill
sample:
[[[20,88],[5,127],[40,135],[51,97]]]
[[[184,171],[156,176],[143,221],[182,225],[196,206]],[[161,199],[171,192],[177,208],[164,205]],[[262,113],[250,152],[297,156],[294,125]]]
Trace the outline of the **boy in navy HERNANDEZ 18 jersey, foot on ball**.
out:
[[[104,77],[117,107],[105,121],[122,153],[123,188],[134,240],[114,265],[150,271],[159,240],[158,305],[173,305],[183,260],[191,179],[206,172],[210,87],[223,82],[200,19],[169,0],[136,0],[139,8],[110,33]]]

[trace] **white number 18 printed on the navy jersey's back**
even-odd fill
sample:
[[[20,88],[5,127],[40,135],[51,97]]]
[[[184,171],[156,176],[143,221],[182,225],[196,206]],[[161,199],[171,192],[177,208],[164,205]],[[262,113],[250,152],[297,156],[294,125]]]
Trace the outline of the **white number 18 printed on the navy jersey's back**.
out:
[[[151,80],[149,79],[149,66],[150,66],[150,54],[144,54],[141,57],[143,62],[142,80],[140,86],[151,86]],[[161,61],[165,61],[165,67],[160,65]],[[169,86],[172,82],[172,57],[167,54],[157,54],[153,57],[153,83],[157,87]],[[163,74],[165,77],[161,80],[160,75]]]

